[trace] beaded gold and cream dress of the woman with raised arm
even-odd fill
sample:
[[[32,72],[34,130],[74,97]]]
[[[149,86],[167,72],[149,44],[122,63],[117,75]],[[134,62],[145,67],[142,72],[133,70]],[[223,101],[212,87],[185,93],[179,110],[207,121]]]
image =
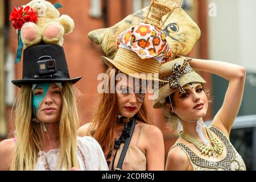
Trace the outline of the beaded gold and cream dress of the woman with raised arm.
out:
[[[174,147],[181,147],[187,154],[194,171],[246,171],[245,163],[242,157],[232,143],[229,142],[228,138],[216,127],[210,126],[210,131],[215,133],[225,144],[227,155],[220,162],[210,162],[197,156],[192,150],[190,150],[183,143],[176,143]]]

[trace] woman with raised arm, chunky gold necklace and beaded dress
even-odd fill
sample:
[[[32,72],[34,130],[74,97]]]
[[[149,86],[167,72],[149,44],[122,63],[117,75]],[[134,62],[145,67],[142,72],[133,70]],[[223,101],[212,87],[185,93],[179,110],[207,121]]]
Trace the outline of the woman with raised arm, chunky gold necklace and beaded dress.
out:
[[[208,99],[205,80],[193,69],[213,73],[229,81],[221,109],[209,127],[203,117]],[[164,107],[168,122],[180,121],[180,137],[167,156],[166,170],[246,170],[241,156],[230,143],[229,135],[240,109],[245,85],[245,68],[221,61],[179,57],[160,67],[159,97],[154,108]]]

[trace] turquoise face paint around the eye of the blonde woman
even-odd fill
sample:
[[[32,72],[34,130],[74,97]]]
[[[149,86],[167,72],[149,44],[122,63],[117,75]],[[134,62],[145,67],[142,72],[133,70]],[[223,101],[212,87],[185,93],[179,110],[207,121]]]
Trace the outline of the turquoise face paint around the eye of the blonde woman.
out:
[[[43,94],[40,94],[38,96],[32,94],[32,107],[35,109],[35,115],[38,115],[38,108],[41,104],[41,102],[44,100],[44,97],[46,97],[46,94],[49,90],[50,84],[38,84],[36,88],[43,89]]]

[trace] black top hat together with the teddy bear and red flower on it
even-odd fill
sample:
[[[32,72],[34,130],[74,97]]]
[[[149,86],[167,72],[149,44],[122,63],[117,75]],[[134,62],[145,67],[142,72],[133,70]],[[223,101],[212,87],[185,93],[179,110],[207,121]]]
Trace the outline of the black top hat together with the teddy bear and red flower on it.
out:
[[[65,53],[63,50],[63,34],[73,30],[73,20],[61,15],[59,3],[52,5],[44,0],[33,0],[19,8],[14,7],[10,15],[13,26],[18,31],[18,51],[15,63],[20,61],[23,43],[23,75],[21,80],[13,80],[13,84],[42,84],[49,82],[75,82],[81,77],[70,78]],[[55,26],[55,28],[53,27]],[[56,29],[57,28],[57,29]],[[59,28],[59,29],[58,29]],[[43,35],[53,34],[52,30],[60,30],[61,35],[52,37],[49,42]],[[58,31],[57,31],[58,32]],[[39,34],[40,33],[40,34]],[[26,36],[31,36],[26,40]]]

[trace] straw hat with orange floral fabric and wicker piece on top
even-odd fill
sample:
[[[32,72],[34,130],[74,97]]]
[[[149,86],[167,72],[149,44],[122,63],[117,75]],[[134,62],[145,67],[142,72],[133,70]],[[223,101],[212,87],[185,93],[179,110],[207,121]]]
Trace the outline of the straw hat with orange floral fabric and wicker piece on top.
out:
[[[127,75],[135,74],[131,76],[162,81],[154,75],[158,75],[160,64],[171,57],[172,51],[164,32],[161,31],[161,24],[163,25],[165,20],[163,23],[161,21],[163,16],[170,16],[179,7],[180,1],[167,6],[163,0],[152,0],[144,22],[119,34],[118,51],[114,59],[105,56],[102,56],[102,59],[109,67],[114,66]]]

